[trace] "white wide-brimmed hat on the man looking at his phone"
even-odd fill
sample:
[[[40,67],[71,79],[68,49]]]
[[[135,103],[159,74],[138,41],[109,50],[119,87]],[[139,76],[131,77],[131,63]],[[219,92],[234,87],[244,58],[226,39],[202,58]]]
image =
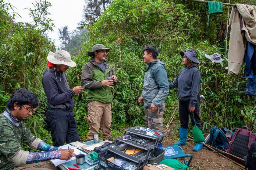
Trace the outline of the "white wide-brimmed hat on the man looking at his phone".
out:
[[[57,50],[55,53],[50,51],[47,60],[53,64],[64,64],[69,67],[76,66],[76,63],[71,60],[69,52],[65,50]]]

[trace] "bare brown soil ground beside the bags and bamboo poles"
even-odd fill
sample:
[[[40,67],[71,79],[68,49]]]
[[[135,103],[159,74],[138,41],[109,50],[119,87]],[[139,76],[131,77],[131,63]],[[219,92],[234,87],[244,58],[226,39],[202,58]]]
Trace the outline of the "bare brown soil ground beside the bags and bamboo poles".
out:
[[[168,138],[170,138],[173,134],[167,132]],[[171,146],[173,143],[177,141],[174,140],[164,140],[163,146]],[[192,148],[195,146],[195,143],[187,140],[186,146],[181,146],[184,153],[193,155],[193,159],[189,165],[191,170],[242,170],[239,165],[236,165],[233,161],[230,161],[222,156],[218,155],[218,153],[207,150],[206,147],[200,151],[193,151]],[[184,163],[182,159],[179,159],[181,163]],[[187,159],[188,161],[188,159]]]

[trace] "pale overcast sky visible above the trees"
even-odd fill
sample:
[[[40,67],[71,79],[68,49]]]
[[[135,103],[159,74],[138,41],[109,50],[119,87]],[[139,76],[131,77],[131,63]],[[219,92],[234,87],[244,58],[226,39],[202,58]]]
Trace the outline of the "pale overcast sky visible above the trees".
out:
[[[35,0],[5,0],[9,1],[15,12],[21,17],[16,17],[16,22],[32,22],[32,18],[29,15],[29,10],[24,8],[32,8],[31,2]],[[39,1],[39,0],[38,0]],[[61,43],[59,42],[58,28],[68,25],[69,31],[76,29],[77,23],[82,20],[84,0],[48,0],[52,4],[49,12],[52,14],[48,16],[54,20],[55,28],[54,32],[49,32],[48,36],[54,40],[55,46],[58,47]]]

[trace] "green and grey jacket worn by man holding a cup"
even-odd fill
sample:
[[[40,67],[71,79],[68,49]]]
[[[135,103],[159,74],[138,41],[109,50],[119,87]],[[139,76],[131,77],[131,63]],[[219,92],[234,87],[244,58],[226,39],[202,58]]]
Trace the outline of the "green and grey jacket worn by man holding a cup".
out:
[[[85,88],[87,90],[86,103],[91,101],[100,101],[102,103],[110,103],[112,101],[113,95],[111,87],[102,87],[101,81],[106,80],[107,77],[115,75],[112,66],[108,62],[103,61],[105,65],[105,73],[98,66],[94,58],[91,58],[83,68],[81,76],[81,85],[89,83]],[[116,85],[118,81],[114,85]]]

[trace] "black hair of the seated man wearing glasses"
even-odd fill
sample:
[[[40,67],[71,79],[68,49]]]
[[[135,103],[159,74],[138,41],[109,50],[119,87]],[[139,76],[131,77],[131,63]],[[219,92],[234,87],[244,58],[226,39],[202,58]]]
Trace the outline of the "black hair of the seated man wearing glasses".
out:
[[[13,105],[17,102],[18,106],[28,104],[32,108],[36,108],[38,105],[37,95],[27,89],[16,89],[10,99],[7,101],[6,108],[8,110],[14,110]]]

